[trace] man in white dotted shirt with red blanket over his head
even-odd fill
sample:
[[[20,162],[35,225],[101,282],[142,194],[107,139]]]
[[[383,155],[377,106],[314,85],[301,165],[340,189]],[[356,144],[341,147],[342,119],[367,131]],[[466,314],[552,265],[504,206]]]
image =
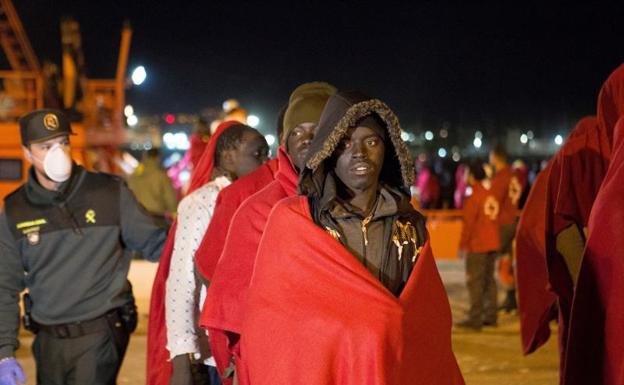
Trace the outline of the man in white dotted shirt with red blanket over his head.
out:
[[[150,325],[150,332],[159,337],[152,339],[149,345],[150,350],[159,349],[157,353],[160,354],[150,356],[148,383],[186,384],[194,377],[192,373],[216,377],[214,360],[209,352],[201,349],[200,344],[205,338],[198,335],[196,328],[205,289],[196,280],[195,252],[210,222],[219,191],[238,176],[255,170],[266,160],[267,154],[268,145],[264,137],[238,122],[221,123],[211,137],[191,177],[190,192],[180,202],[177,222],[170,231],[155,278],[152,293],[154,314],[150,311],[154,322]],[[162,327],[163,291],[166,328]],[[162,329],[166,333],[166,347],[173,365],[170,380],[168,364],[158,362],[163,358],[163,347],[160,346],[164,342],[164,338],[160,337],[163,336]],[[197,364],[194,368],[197,370],[192,371],[192,364]]]

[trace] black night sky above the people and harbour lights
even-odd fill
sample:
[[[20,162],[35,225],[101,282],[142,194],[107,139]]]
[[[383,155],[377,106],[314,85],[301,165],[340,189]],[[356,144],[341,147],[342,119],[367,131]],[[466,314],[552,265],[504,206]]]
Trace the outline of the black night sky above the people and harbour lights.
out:
[[[295,86],[327,80],[386,101],[411,129],[568,129],[594,113],[600,85],[624,61],[617,5],[15,3],[40,59],[58,61],[59,19],[74,16],[90,77],[114,76],[129,19],[130,67],[144,64],[149,76],[128,93],[139,113],[235,97],[269,127]]]

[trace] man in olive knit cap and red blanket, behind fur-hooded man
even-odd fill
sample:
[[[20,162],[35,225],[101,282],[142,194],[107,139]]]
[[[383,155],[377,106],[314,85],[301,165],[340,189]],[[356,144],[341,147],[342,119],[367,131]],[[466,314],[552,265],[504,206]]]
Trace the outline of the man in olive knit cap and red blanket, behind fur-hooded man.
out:
[[[244,316],[244,298],[251,280],[264,225],[277,202],[297,193],[299,172],[305,166],[310,143],[329,97],[336,88],[323,82],[305,83],[290,96],[284,114],[275,181],[240,206],[225,240],[202,311],[200,326],[209,330],[210,345],[221,373],[234,357],[239,384],[248,384],[238,341]]]

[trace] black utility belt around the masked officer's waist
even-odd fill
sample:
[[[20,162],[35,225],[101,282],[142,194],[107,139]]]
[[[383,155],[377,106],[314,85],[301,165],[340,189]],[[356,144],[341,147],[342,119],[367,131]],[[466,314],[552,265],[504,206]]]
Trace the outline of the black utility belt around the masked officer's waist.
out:
[[[30,304],[28,304],[28,302],[30,302]],[[126,333],[130,334],[134,332],[137,327],[138,317],[134,298],[132,298],[131,302],[121,307],[109,310],[100,317],[88,321],[70,322],[60,325],[42,325],[37,323],[30,315],[32,302],[28,294],[24,295],[24,303],[24,328],[35,334],[41,331],[56,338],[77,338],[107,329],[122,329]]]

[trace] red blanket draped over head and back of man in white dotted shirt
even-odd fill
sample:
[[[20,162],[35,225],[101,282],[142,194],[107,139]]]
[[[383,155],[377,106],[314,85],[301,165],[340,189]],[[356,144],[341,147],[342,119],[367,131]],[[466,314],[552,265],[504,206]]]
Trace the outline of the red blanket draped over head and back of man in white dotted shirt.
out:
[[[210,181],[214,168],[214,157],[217,141],[225,130],[238,124],[236,121],[226,121],[217,127],[210,137],[206,149],[198,164],[193,170],[189,194]],[[158,263],[158,270],[154,277],[150,297],[149,324],[147,328],[147,385],[169,385],[172,366],[167,351],[167,323],[165,320],[165,290],[171,255],[175,244],[177,221],[173,223]]]

